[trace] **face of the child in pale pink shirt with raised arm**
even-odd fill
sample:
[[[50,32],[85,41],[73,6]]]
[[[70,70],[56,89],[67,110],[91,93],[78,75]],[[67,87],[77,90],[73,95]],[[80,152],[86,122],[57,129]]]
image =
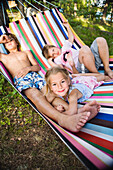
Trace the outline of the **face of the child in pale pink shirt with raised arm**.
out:
[[[51,47],[51,48],[48,50],[48,54],[49,54],[50,57],[56,58],[56,57],[58,57],[59,55],[61,55],[61,49],[60,49],[60,48],[57,48],[57,47]]]

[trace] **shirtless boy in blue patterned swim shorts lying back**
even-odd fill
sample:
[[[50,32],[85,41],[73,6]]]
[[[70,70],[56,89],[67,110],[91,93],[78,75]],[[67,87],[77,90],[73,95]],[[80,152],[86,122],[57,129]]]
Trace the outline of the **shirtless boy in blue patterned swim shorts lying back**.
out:
[[[70,116],[58,112],[49,104],[42,93],[45,81],[36,73],[40,70],[40,67],[32,53],[30,51],[19,51],[18,40],[15,35],[10,33],[0,36],[0,43],[3,43],[9,52],[8,54],[0,53],[0,61],[11,73],[17,88],[19,87],[18,89],[24,92],[40,112],[55,120],[60,126],[73,132],[78,132],[88,120],[92,119],[98,113],[100,105],[96,101],[89,102],[80,108],[76,115]],[[37,86],[32,82],[30,86],[23,88],[19,84],[22,82],[20,81],[18,83],[18,80],[21,78],[23,78],[23,81],[25,78],[31,80],[32,74],[36,74]]]

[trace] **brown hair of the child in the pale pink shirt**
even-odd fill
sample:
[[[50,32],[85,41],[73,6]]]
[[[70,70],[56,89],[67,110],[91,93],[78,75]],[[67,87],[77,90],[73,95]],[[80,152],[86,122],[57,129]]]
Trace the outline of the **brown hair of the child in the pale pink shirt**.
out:
[[[49,59],[51,56],[49,56],[49,49],[55,47],[54,45],[48,45],[46,44],[42,49],[42,54],[46,59]]]

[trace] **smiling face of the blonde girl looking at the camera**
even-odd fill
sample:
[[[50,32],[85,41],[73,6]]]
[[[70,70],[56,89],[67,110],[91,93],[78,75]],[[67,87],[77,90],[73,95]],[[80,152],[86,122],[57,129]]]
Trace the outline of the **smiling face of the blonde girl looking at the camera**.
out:
[[[70,85],[70,79],[65,79],[62,73],[50,76],[50,89],[54,94],[66,97]]]

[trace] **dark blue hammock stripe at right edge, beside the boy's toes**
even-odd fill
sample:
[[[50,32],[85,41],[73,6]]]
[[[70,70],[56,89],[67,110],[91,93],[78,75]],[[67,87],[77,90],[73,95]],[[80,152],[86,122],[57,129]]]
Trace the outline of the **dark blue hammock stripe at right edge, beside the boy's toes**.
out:
[[[97,114],[97,116],[95,118],[113,122],[113,115],[101,113],[101,112],[99,112],[99,113],[100,114]]]

